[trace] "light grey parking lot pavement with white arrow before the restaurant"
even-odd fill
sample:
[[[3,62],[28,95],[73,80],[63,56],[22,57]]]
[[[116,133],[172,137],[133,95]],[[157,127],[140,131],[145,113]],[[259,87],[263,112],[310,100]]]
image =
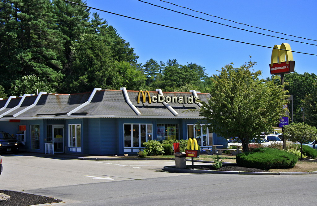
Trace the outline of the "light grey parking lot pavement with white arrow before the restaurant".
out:
[[[31,190],[67,185],[185,175],[163,171],[174,160],[80,160],[52,155],[4,154],[2,190]],[[191,164],[191,162],[187,162]],[[195,163],[205,164],[205,163]]]

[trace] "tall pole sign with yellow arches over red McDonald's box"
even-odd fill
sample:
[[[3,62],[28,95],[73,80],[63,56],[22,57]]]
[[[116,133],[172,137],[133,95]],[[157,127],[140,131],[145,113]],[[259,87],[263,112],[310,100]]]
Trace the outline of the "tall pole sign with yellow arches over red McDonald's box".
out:
[[[295,61],[291,46],[287,43],[275,45],[272,50],[270,72],[271,74],[285,74],[294,72]]]

